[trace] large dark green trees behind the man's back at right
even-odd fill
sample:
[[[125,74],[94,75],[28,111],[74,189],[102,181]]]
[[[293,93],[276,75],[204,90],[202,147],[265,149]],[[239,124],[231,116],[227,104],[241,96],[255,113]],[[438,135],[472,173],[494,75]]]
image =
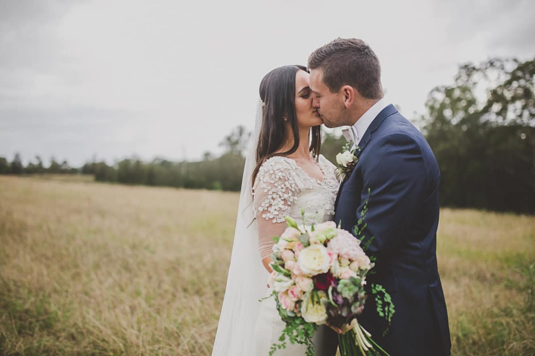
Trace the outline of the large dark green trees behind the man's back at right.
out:
[[[534,77],[535,59],[491,59],[461,66],[454,85],[430,92],[423,131],[442,205],[535,212]]]

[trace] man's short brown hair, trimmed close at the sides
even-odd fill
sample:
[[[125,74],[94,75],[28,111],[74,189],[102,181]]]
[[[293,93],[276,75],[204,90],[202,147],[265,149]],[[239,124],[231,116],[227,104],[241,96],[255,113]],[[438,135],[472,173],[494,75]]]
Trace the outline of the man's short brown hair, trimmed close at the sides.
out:
[[[323,81],[333,93],[351,85],[364,98],[383,97],[379,58],[362,39],[334,39],[310,54],[308,68],[322,69]]]

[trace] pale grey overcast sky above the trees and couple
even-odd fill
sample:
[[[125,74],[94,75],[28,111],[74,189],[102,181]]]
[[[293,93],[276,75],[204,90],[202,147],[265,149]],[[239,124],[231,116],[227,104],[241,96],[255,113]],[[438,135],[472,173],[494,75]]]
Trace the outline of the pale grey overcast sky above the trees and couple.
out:
[[[219,153],[269,70],[335,37],[376,52],[409,120],[458,64],[535,55],[535,2],[0,0],[0,156],[78,166]]]

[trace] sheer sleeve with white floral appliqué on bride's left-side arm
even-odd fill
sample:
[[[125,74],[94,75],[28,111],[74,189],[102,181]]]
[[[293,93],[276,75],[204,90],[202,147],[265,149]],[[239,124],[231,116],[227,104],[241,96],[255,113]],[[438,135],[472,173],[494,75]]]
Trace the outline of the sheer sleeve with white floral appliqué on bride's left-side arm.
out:
[[[271,254],[272,236],[280,236],[286,228],[297,196],[294,170],[283,157],[272,157],[258,171],[254,185],[253,207],[258,227],[258,250],[261,259]]]

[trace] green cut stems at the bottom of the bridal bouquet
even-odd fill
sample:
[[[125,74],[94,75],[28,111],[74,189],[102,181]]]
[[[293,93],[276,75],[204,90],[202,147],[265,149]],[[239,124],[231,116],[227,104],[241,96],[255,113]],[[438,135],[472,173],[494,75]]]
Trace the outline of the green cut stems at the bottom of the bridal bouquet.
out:
[[[338,334],[338,345],[341,356],[390,356],[372,340],[371,334],[358,323],[347,333]]]

